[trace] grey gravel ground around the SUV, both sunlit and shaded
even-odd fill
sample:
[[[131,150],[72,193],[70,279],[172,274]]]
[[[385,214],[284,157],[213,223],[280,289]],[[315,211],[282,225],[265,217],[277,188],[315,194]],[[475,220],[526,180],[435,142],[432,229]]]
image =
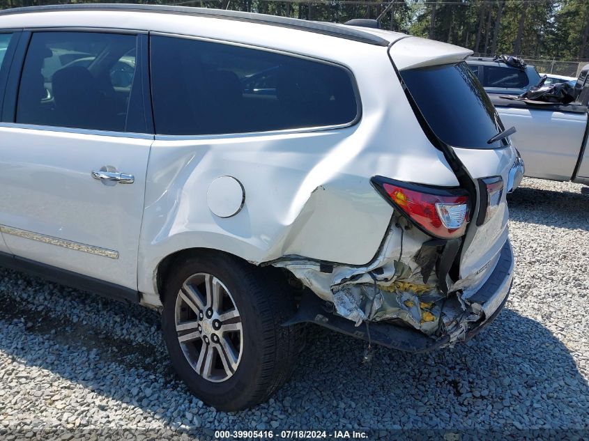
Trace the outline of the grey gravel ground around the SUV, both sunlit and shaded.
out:
[[[216,412],[175,378],[153,311],[0,269],[0,434],[197,438],[213,429],[542,429],[589,435],[589,195],[526,179],[510,196],[516,277],[507,307],[473,341],[427,355],[314,328],[291,381],[268,403]],[[4,431],[4,432],[2,432]],[[95,433],[93,436],[96,436]],[[186,435],[183,435],[186,436]],[[121,438],[114,437],[113,438]],[[138,438],[137,438],[138,437]]]

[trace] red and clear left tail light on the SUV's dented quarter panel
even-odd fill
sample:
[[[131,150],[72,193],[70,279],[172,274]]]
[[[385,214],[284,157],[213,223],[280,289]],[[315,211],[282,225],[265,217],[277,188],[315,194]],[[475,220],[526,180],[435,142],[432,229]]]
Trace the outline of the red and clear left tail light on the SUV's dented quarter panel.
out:
[[[374,178],[374,185],[393,206],[425,233],[452,239],[464,234],[468,224],[468,195],[462,190],[430,188]]]

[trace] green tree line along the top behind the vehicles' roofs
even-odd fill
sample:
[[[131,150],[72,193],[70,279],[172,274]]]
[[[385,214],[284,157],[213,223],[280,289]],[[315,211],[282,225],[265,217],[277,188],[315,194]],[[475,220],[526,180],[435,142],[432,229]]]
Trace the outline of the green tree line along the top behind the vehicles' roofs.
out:
[[[51,3],[59,2],[0,0],[0,8]],[[337,23],[353,18],[378,18],[383,29],[468,47],[475,54],[589,59],[589,0],[140,0],[138,3],[243,10]]]

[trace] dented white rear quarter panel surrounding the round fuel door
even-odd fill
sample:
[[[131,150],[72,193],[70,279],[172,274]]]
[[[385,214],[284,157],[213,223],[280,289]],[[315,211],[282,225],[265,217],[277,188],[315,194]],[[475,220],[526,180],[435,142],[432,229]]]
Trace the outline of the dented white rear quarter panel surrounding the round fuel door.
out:
[[[362,118],[355,125],[156,137],[139,243],[138,283],[146,303],[158,306],[160,261],[183,249],[218,249],[254,264],[295,257],[366,265],[392,217],[370,183],[373,176],[457,185],[412,117],[386,48],[362,45],[362,51],[369,65],[344,52],[330,57],[341,55],[339,62],[356,77]],[[219,176],[234,176],[245,190],[243,208],[233,217],[208,209],[208,185]]]

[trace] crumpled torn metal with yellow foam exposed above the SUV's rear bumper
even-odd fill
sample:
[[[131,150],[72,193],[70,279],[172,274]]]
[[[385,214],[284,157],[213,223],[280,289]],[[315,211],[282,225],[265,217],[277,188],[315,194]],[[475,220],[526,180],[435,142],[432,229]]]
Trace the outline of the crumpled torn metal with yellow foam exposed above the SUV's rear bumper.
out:
[[[290,270],[316,295],[332,302],[339,316],[356,326],[367,320],[400,319],[427,335],[440,331],[450,334],[450,342],[464,339],[470,323],[484,314],[481,305],[463,299],[462,291],[445,298],[434,274],[424,284],[422,267],[414,260],[424,238],[419,233],[405,234],[399,256],[401,238],[395,231],[390,231],[374,261],[363,267],[335,265],[332,272],[321,272],[321,265],[312,261],[274,265]]]

